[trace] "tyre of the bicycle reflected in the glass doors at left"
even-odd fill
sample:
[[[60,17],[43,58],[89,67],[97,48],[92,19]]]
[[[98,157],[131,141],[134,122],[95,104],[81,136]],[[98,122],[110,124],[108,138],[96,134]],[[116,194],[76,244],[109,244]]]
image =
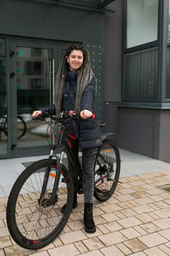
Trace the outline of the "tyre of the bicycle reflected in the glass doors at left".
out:
[[[17,117],[17,124],[18,124],[18,139],[23,137],[26,134],[26,122],[23,120],[22,116]],[[5,135],[8,135],[8,128],[7,128],[7,118],[5,118],[3,130]]]

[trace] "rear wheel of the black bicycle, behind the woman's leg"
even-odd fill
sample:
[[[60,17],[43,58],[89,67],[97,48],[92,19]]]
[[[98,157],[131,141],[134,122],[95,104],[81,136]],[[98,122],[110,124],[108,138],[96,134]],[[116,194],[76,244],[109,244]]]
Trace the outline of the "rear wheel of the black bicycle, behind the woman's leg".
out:
[[[98,148],[94,173],[94,197],[104,202],[115,192],[120,176],[120,152],[113,140],[104,140]]]

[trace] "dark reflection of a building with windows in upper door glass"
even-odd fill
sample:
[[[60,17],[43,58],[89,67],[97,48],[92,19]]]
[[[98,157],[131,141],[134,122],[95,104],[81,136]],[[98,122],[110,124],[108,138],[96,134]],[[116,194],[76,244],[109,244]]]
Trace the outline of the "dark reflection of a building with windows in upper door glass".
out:
[[[50,100],[49,59],[52,50],[18,47],[16,59],[18,113],[31,113]]]

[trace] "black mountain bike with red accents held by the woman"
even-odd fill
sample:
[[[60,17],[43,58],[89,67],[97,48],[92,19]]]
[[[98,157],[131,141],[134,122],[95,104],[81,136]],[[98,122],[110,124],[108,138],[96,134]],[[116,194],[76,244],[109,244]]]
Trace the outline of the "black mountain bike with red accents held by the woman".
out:
[[[50,116],[48,125],[51,146],[47,159],[32,163],[20,174],[9,194],[7,202],[7,227],[14,241],[26,249],[39,249],[50,244],[63,230],[72,211],[74,187],[71,175],[64,164],[65,155],[74,162],[78,173],[77,193],[82,191],[80,160],[71,148],[66,136],[66,124],[76,119],[74,113],[61,113],[57,118]],[[47,119],[46,119],[47,121]],[[56,130],[60,129],[56,139]],[[94,165],[94,197],[108,200],[117,187],[120,176],[120,153],[111,134],[103,134]],[[56,154],[56,148],[61,148]],[[62,206],[66,204],[64,211]]]

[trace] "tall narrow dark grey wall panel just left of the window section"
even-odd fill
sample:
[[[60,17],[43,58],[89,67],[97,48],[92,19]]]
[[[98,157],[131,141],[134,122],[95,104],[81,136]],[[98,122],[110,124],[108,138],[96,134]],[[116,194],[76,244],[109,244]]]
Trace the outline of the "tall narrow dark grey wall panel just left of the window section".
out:
[[[120,102],[123,78],[122,69],[122,20],[123,0],[109,4],[115,13],[106,12],[105,44],[105,102]]]

